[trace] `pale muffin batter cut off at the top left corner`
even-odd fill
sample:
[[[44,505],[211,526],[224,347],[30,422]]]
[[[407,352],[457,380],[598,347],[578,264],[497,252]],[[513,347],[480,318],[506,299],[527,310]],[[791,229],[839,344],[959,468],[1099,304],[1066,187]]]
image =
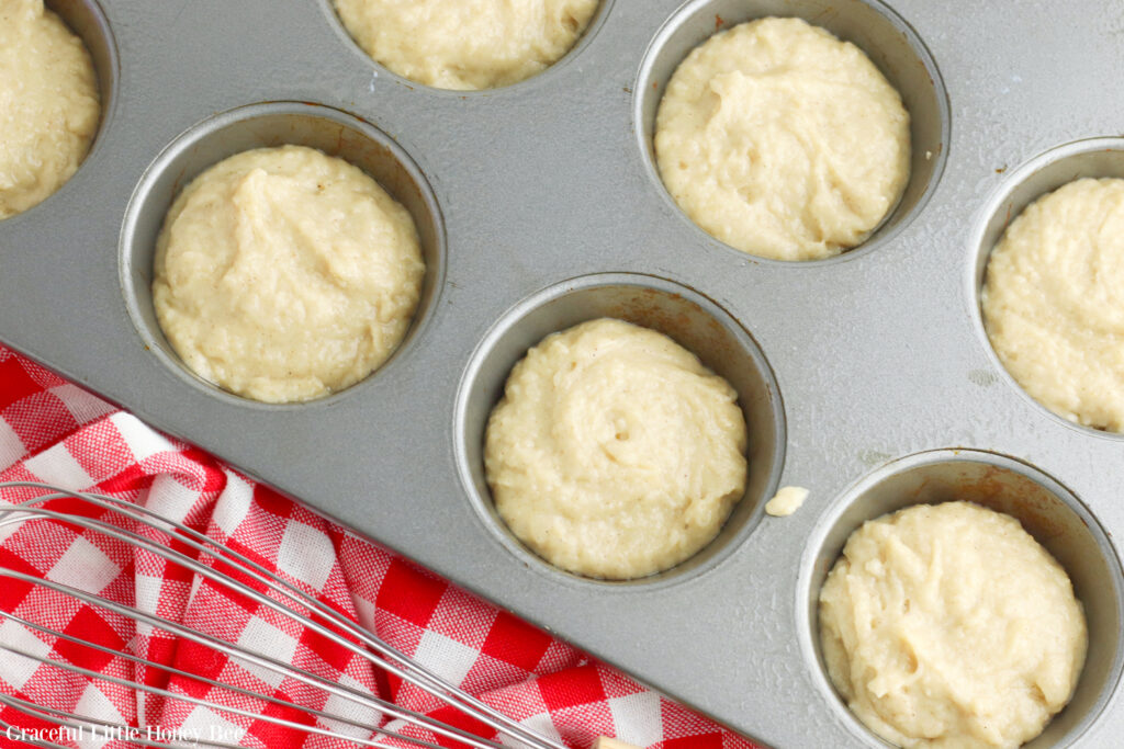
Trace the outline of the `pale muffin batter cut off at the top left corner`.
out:
[[[43,0],[0,0],[0,219],[37,205],[74,174],[100,117],[82,42]]]

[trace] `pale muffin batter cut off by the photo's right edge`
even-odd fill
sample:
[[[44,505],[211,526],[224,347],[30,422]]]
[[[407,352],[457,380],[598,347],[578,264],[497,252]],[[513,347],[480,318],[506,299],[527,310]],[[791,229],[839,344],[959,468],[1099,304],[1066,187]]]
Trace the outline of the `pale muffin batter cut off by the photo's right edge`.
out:
[[[1034,400],[1124,431],[1124,180],[1078,180],[1027,207],[991,253],[982,309]]]

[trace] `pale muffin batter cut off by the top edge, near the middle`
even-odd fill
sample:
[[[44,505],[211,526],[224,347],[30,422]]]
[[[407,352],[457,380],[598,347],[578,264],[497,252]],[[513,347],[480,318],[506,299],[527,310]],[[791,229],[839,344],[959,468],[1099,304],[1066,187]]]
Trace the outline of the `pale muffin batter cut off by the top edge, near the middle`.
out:
[[[598,0],[336,0],[375,62],[438,89],[495,89],[550,67],[582,35]]]

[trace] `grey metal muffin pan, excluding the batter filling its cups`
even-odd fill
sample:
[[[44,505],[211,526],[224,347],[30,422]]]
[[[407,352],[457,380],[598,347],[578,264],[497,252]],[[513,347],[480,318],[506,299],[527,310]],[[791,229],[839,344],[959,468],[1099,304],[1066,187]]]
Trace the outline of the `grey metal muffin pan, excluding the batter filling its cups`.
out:
[[[1001,506],[1067,567],[1089,616],[1077,695],[1034,746],[1112,746],[1124,731],[1112,540],[1124,439],[1030,400],[979,313],[986,255],[1010,217],[1071,176],[1124,175],[1120,141],[1085,140],[1122,127],[1114,0],[618,0],[543,74],[472,93],[372,63],[328,0],[48,4],[87,38],[106,107],[74,177],[0,222],[6,344],[778,747],[880,746],[832,691],[815,637],[818,584],[846,533],[928,499]],[[913,115],[901,204],[830,261],[763,261],[711,239],[652,164],[676,57],[708,29],[769,13],[854,40]],[[145,289],[175,190],[229,153],[282,141],[383,181],[430,265],[390,362],[337,395],[277,407],[187,374]],[[695,349],[732,380],[753,432],[750,487],[723,535],[633,583],[568,575],[523,549],[491,513],[479,458],[519,349],[601,313]],[[764,517],[783,484],[810,497]]]

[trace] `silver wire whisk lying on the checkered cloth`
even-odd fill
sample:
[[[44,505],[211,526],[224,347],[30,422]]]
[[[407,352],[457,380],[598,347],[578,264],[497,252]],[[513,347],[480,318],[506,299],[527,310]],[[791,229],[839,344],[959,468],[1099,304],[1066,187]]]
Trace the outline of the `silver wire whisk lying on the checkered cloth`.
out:
[[[0,483],[0,490],[13,487],[31,487],[44,493],[21,504],[0,509],[0,537],[11,532],[13,530],[12,527],[18,524],[31,522],[65,523],[70,527],[82,529],[83,533],[87,535],[90,532],[100,533],[107,539],[115,539],[115,541],[123,542],[129,547],[144,549],[167,560],[170,565],[176,565],[189,570],[196,576],[197,584],[200,582],[200,578],[209,581],[211,584],[220,586],[229,593],[246,596],[257,604],[269,606],[283,616],[292,618],[301,627],[311,630],[342,648],[346,648],[346,650],[355,656],[365,659],[374,668],[387,674],[392,674],[404,682],[424,689],[447,705],[490,727],[505,737],[505,743],[501,745],[481,739],[462,729],[439,722],[422,713],[402,709],[361,689],[352,688],[346,684],[326,679],[311,672],[297,668],[292,664],[272,657],[270,654],[248,650],[237,643],[227,642],[210,634],[194,631],[180,622],[140,611],[134,605],[125,605],[111,601],[102,595],[94,595],[69,585],[0,566],[0,577],[6,578],[2,582],[4,585],[8,584],[7,581],[19,581],[24,585],[42,586],[51,591],[52,595],[69,596],[81,604],[126,616],[137,624],[152,628],[152,630],[162,630],[182,640],[208,648],[224,657],[243,664],[251,664],[256,669],[266,669],[279,677],[294,679],[308,689],[317,689],[330,695],[334,700],[329,701],[328,704],[341,705],[347,703],[353,706],[357,705],[378,711],[407,725],[414,725],[429,731],[437,737],[459,742],[459,746],[463,745],[474,749],[500,749],[501,747],[510,746],[525,746],[533,749],[565,749],[564,745],[559,741],[543,737],[518,724],[466,692],[448,684],[433,672],[413,661],[409,657],[378,637],[374,637],[371,632],[333,610],[327,604],[287,583],[255,561],[226,546],[217,544],[182,523],[163,518],[143,506],[110,496],[85,492],[70,492],[29,482]],[[76,501],[79,504],[69,503],[66,511],[42,506],[53,500],[60,499]],[[57,631],[42,621],[30,621],[7,611],[0,611],[0,615],[28,630],[34,630],[42,636],[46,636],[55,643],[66,643],[65,647],[69,652],[73,652],[74,648],[90,648],[103,655],[124,658],[135,666],[132,672],[133,674],[136,674],[139,669],[156,669],[165,673],[169,677],[175,676],[189,679],[190,683],[197,684],[201,688],[206,687],[208,694],[215,694],[214,692],[209,692],[210,689],[220,689],[232,695],[261,701],[263,705],[273,705],[277,707],[292,706],[292,703],[289,701],[273,694],[263,694],[253,689],[223,684],[212,678],[163,665],[132,652],[109,650],[102,645],[82,639],[80,634]],[[317,734],[361,747],[386,746],[380,743],[380,739],[393,737],[414,746],[439,749],[438,745],[429,741],[362,724],[345,714],[339,714],[341,711],[338,709],[334,712],[327,712],[326,710],[301,707],[308,718],[321,721],[319,725],[309,724],[315,723],[315,720],[298,722],[279,714],[270,714],[270,711],[265,710],[251,712],[226,706],[215,700],[197,697],[182,692],[173,692],[147,683],[153,679],[145,679],[145,683],[140,683],[139,678],[129,679],[101,674],[64,661],[57,657],[52,657],[51,655],[31,652],[10,642],[0,641],[0,650],[29,658],[39,664],[46,664],[49,668],[60,669],[61,672],[133,688],[145,693],[146,697],[151,695],[165,701],[182,701],[189,705],[203,706],[217,713],[252,718],[255,721],[266,721],[273,725],[299,731],[307,736]],[[51,649],[52,654],[55,651],[56,648]],[[155,732],[152,730],[143,732],[137,727],[107,722],[96,715],[82,715],[55,707],[36,705],[13,694],[0,693],[0,705],[12,709],[38,725],[48,724],[55,727],[54,733],[39,732],[34,736],[20,736],[25,742],[31,746],[65,747],[65,745],[58,743],[54,739],[79,736],[80,730],[85,731],[87,736],[90,732],[96,732],[94,736],[99,738],[124,738],[130,743],[146,747],[235,746],[207,737],[192,737],[190,741],[185,741],[183,737],[169,736],[167,733],[161,733],[158,730]],[[355,738],[354,736],[343,733],[341,730],[325,728],[326,723],[323,721],[327,721],[332,725],[351,727],[363,732],[370,731],[374,736],[368,739]],[[18,727],[0,718],[0,736],[13,736],[10,731],[18,731]]]

